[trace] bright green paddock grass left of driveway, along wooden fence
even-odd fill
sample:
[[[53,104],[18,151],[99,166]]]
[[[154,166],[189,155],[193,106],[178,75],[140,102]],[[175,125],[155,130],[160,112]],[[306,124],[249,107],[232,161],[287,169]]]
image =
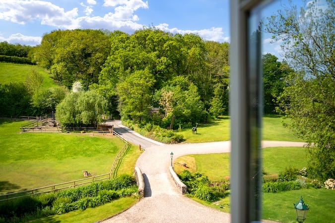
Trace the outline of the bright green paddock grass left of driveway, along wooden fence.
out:
[[[89,134],[19,133],[27,121],[0,120],[0,194],[108,173],[124,143]],[[131,147],[118,173],[132,174],[140,152]]]

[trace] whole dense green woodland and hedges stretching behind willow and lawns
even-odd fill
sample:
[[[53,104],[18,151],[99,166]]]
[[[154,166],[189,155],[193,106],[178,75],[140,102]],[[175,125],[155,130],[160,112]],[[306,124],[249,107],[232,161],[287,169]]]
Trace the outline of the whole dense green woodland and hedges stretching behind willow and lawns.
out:
[[[0,52],[9,46],[2,44]],[[107,113],[136,123],[153,121],[170,127],[174,117],[171,127],[178,128],[228,113],[228,43],[204,41],[195,34],[172,35],[155,28],[144,28],[132,35],[121,31],[56,30],[45,34],[41,44],[24,56],[28,55],[68,90],[80,82],[83,91],[94,91],[108,101]],[[265,110],[271,113],[282,92],[282,77],[290,70],[272,55],[264,56],[264,62]],[[36,75],[30,79],[38,82]],[[53,101],[59,103],[64,97],[60,92],[55,95],[35,90],[30,91],[35,109],[28,111],[28,106],[25,111],[2,113],[48,113],[56,105],[42,102],[56,97]],[[26,98],[29,101],[29,96]],[[153,107],[161,108],[161,113],[149,116],[149,108]]]

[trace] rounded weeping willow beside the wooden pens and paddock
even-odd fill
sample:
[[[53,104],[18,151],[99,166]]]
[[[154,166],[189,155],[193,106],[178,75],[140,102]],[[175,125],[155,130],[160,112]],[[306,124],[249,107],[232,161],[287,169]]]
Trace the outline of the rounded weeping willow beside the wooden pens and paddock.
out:
[[[96,126],[106,113],[107,101],[95,91],[67,94],[56,107],[56,118],[63,126]]]

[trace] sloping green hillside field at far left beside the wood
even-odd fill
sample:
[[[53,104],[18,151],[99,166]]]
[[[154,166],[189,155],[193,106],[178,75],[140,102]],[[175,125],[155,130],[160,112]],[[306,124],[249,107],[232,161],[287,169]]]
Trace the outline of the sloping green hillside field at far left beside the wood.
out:
[[[51,88],[58,86],[43,68],[37,65],[18,64],[18,63],[4,63],[0,62],[0,84],[8,84],[10,82],[25,82],[27,75],[36,70],[43,76],[42,88]]]

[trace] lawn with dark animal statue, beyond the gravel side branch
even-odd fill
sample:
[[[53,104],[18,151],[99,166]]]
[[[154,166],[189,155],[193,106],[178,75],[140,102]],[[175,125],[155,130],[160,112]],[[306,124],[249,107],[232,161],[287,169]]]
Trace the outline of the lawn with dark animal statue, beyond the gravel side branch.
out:
[[[285,119],[288,122],[289,119]],[[282,125],[280,115],[266,115],[263,117],[263,140],[303,142],[295,137],[288,128]],[[221,116],[206,124],[199,124],[198,134],[192,134],[191,128],[183,129],[180,134],[184,136],[186,143],[226,141],[230,139],[230,117]]]

